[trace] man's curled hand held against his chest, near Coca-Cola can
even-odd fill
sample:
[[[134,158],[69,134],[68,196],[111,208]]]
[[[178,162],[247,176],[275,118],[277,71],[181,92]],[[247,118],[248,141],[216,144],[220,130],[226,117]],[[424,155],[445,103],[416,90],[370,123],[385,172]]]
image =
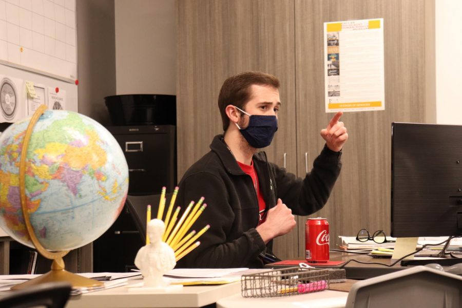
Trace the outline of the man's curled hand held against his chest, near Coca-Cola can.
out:
[[[278,199],[276,206],[268,210],[265,222],[257,227],[257,231],[267,243],[277,236],[289,233],[296,224],[292,210]]]

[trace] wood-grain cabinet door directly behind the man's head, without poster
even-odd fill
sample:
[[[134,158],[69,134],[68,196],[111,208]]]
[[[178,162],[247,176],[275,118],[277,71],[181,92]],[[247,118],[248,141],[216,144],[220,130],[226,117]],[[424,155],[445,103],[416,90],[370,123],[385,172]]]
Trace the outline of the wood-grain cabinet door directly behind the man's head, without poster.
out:
[[[296,172],[294,1],[177,1],[178,179],[222,133],[218,93],[230,75],[247,70],[281,82],[279,129],[268,160]],[[297,230],[278,238],[281,258],[298,254]]]

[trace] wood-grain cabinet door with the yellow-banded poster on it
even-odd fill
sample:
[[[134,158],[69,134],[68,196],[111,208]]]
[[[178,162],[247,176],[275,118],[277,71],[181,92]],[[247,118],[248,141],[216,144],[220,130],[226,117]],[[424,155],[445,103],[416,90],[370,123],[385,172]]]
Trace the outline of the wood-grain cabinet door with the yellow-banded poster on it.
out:
[[[305,155],[311,169],[324,145],[319,131],[333,116],[324,110],[323,23],[383,18],[385,110],[343,114],[349,140],[343,148],[341,175],[328,203],[313,215],[328,219],[331,248],[339,243],[339,235],[356,236],[361,228],[390,233],[391,123],[425,121],[426,56],[432,52],[424,47],[431,43],[426,40],[432,40],[426,36],[432,22],[425,15],[429,4],[412,0],[295,1],[299,176],[305,172]],[[304,257],[305,221],[299,218],[300,257]]]

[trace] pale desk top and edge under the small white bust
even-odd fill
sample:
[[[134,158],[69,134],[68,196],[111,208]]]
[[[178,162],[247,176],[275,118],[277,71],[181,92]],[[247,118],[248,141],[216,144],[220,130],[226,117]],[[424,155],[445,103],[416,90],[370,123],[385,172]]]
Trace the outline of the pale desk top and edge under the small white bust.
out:
[[[130,284],[141,280],[129,280]],[[125,286],[72,296],[66,308],[144,308],[144,307],[201,307],[221,298],[241,293],[241,282],[221,285],[185,286],[171,293],[128,292]],[[347,293],[345,293],[347,294]]]

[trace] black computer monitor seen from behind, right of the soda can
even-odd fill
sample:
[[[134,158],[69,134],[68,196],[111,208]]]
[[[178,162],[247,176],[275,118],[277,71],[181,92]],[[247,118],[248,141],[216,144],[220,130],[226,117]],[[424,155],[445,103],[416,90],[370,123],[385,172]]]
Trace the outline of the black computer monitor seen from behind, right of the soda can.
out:
[[[462,235],[462,126],[392,123],[391,235]]]

